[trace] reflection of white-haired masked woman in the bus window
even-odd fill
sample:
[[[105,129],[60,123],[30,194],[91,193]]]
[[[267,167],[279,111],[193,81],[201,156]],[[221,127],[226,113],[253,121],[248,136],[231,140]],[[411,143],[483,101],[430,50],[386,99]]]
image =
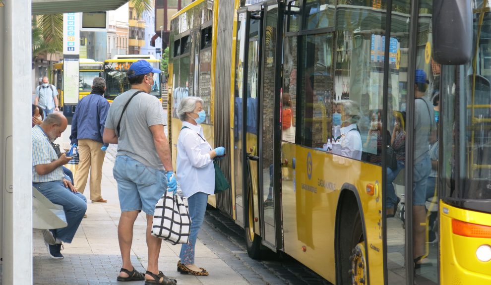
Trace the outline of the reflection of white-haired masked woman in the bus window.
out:
[[[341,120],[339,120],[341,117]],[[362,159],[362,137],[357,123],[361,118],[358,103],[352,100],[336,102],[336,113],[333,114],[333,124],[340,123],[339,135],[334,134],[332,153],[357,160]]]

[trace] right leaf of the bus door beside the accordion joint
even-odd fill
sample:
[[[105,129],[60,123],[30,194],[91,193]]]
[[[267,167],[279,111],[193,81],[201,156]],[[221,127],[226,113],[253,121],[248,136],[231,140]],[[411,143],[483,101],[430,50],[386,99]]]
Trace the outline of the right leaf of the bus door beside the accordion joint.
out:
[[[282,3],[268,1],[263,8],[261,88],[259,102],[259,217],[262,244],[281,248],[280,215],[280,93],[282,49]]]

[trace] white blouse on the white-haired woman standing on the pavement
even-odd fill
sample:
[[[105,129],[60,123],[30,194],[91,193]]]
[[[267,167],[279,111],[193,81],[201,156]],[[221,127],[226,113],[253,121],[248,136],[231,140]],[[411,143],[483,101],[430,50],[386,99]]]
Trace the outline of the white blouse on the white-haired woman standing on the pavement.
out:
[[[203,128],[199,124],[183,122],[184,126],[187,128],[181,129],[178,138],[176,171],[184,197],[197,192],[214,194],[215,167],[209,154],[212,148],[205,140]]]

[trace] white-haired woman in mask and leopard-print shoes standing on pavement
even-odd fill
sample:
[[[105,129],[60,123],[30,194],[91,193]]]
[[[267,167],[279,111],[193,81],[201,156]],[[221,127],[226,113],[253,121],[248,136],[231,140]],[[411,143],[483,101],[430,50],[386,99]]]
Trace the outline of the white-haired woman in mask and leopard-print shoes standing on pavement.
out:
[[[206,119],[203,100],[186,97],[181,100],[177,114],[183,121],[178,138],[177,177],[189,205],[191,228],[189,241],[181,248],[178,271],[181,274],[208,276],[204,268],[194,264],[194,246],[203,224],[208,195],[215,192],[213,158],[225,154],[224,147],[212,149],[206,141],[200,123]]]

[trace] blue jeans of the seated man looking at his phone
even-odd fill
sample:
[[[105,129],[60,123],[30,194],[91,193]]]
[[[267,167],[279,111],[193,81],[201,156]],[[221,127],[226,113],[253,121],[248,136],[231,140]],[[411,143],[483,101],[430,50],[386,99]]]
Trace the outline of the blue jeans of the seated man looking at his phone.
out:
[[[32,185],[48,200],[63,206],[68,226],[54,229],[52,232],[55,238],[70,243],[87,210],[85,197],[81,193],[73,193],[65,188],[62,181],[32,183]]]

